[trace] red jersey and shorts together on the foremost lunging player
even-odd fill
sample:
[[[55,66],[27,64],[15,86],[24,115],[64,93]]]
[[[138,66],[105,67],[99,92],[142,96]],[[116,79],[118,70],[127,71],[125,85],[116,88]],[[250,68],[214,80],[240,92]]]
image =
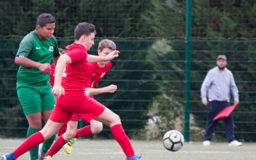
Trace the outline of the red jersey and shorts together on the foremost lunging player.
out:
[[[72,60],[72,63],[66,65],[67,76],[61,81],[65,95],[57,99],[50,118],[53,122],[63,123],[68,122],[71,116],[76,114],[88,123],[99,116],[106,107],[85,93],[90,76],[87,51],[83,45],[75,43],[68,45],[65,54]]]

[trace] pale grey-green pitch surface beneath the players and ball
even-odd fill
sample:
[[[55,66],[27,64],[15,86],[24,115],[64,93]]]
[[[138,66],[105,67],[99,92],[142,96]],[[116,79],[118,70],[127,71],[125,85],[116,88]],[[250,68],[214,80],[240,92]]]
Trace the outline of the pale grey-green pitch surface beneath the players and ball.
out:
[[[24,139],[0,139],[0,154],[12,152]],[[202,146],[201,142],[185,143],[178,152],[170,152],[163,147],[162,141],[132,141],[136,154],[142,153],[143,160],[165,160],[165,159],[255,159],[256,144],[244,143],[241,147],[228,147],[227,143],[212,143],[209,147]],[[19,159],[29,159],[26,153]],[[115,140],[77,140],[72,154],[67,155],[61,149],[54,159],[90,159],[90,160],[122,160],[124,153]]]

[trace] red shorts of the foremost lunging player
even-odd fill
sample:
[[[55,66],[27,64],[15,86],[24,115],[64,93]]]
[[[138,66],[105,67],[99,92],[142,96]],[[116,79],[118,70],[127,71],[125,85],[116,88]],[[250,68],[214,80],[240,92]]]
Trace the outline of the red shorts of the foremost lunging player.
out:
[[[64,123],[72,119],[73,121],[77,121],[77,116],[79,116],[84,122],[88,123],[94,118],[97,118],[105,108],[103,104],[86,95],[81,95],[80,98],[76,99],[63,95],[57,99],[50,119],[53,122]],[[76,115],[73,116],[73,114]],[[71,117],[72,119],[70,119]]]

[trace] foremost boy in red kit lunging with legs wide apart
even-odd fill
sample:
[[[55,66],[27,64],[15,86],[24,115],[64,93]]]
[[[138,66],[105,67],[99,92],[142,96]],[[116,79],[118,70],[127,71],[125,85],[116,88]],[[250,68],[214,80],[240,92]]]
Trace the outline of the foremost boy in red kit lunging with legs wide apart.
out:
[[[88,61],[110,61],[118,57],[118,51],[113,51],[108,56],[93,56],[87,51],[94,44],[95,26],[86,22],[79,23],[74,31],[75,42],[66,47],[66,53],[61,55],[55,68],[55,79],[52,93],[58,97],[56,106],[52,111],[50,119],[44,128],[31,135],[24,143],[12,153],[2,156],[2,160],[13,160],[27,152],[29,149],[51,138],[58,131],[63,122],[70,120],[76,114],[90,122],[99,120],[111,128],[113,137],[122,147],[127,160],[140,160],[141,157],[134,156],[131,142],[124,132],[120,117],[111,110],[88,97],[85,87],[88,79]],[[66,66],[67,77],[63,77],[63,70]],[[62,81],[61,81],[62,79]],[[67,132],[56,140],[59,145],[64,145],[67,140],[76,134],[77,122],[68,122]],[[47,156],[51,159],[51,156]]]

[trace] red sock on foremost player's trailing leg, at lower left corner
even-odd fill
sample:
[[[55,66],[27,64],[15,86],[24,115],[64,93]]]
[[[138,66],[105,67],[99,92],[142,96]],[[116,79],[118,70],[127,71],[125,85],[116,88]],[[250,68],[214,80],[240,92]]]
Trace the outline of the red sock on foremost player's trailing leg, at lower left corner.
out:
[[[41,132],[36,132],[29,136],[18,148],[13,151],[13,156],[17,159],[20,155],[28,152],[32,148],[36,147],[40,143],[44,142],[44,136]]]

